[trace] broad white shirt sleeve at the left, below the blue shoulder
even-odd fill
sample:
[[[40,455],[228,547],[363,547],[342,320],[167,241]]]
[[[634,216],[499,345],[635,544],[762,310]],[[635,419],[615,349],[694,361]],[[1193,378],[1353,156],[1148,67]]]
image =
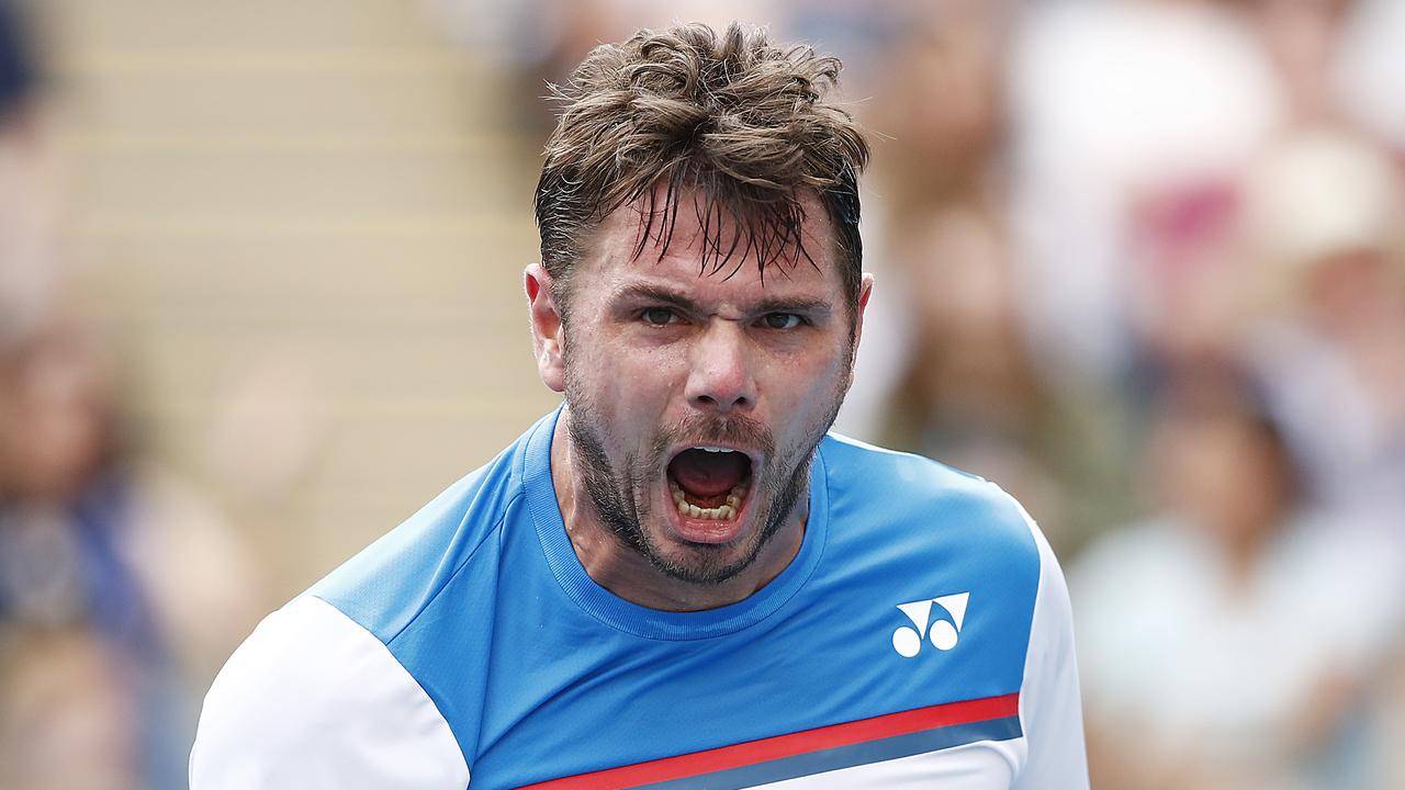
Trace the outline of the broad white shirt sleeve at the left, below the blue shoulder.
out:
[[[205,696],[192,790],[462,790],[434,701],[374,634],[318,597],[270,614]]]

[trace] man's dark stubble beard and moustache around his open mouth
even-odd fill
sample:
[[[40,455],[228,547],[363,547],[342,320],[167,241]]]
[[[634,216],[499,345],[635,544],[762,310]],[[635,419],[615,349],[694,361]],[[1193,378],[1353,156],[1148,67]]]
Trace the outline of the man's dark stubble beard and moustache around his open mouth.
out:
[[[646,457],[625,455],[624,468],[615,470],[599,430],[599,426],[603,425],[599,412],[590,399],[579,391],[570,371],[568,360],[566,433],[572,443],[573,468],[596,514],[621,545],[642,555],[666,576],[694,585],[719,585],[735,578],[756,561],[762,550],[785,526],[801,496],[809,491],[809,470],[815,447],[819,446],[825,432],[839,415],[839,405],[847,389],[846,377],[833,398],[826,419],[812,436],[785,457],[777,457],[776,441],[770,430],[750,417],[698,415],[680,425],[659,430]],[[643,527],[645,523],[655,519],[667,517],[652,513],[649,489],[651,484],[658,484],[658,477],[667,461],[665,457],[667,448],[676,447],[684,440],[694,444],[743,444],[762,450],[770,458],[764,470],[753,470],[752,472],[752,479],[756,481],[750,493],[753,498],[752,517],[764,516],[764,523],[747,540],[740,557],[728,558],[733,548],[731,544],[701,543],[687,543],[684,557],[673,557],[666,554],[651,537],[649,530]]]

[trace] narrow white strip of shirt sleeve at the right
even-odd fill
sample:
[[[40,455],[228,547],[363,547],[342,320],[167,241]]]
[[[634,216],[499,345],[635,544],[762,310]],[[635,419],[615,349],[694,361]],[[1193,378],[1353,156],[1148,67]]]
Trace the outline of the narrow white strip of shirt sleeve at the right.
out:
[[[1028,753],[1014,787],[1086,790],[1087,755],[1068,585],[1044,533],[1028,514],[1026,520],[1040,550],[1040,590],[1020,692],[1020,724]]]

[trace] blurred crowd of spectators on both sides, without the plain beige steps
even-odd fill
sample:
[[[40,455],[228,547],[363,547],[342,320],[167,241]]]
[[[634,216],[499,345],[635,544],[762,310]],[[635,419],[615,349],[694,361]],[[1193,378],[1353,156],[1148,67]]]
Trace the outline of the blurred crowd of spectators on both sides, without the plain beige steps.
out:
[[[424,6],[527,139],[641,25],[840,55],[878,287],[839,427],[1041,522],[1094,786],[1405,787],[1405,3]],[[177,787],[261,600],[42,274],[27,51],[0,15],[0,787]]]

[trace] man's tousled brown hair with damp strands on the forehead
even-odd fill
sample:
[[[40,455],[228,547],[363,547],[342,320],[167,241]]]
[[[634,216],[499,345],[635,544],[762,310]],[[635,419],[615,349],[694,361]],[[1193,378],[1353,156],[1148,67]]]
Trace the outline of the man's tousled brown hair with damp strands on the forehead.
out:
[[[662,257],[684,211],[702,229],[700,271],[756,256],[769,266],[818,268],[805,249],[802,198],[818,197],[835,229],[844,290],[861,287],[858,174],[868,143],[849,112],[826,103],[840,63],[809,46],[780,48],[763,30],[732,22],[639,31],[601,45],[554,86],[563,104],[537,183],[542,264],[569,294],[590,232],[639,201],[638,257],[652,238]]]

